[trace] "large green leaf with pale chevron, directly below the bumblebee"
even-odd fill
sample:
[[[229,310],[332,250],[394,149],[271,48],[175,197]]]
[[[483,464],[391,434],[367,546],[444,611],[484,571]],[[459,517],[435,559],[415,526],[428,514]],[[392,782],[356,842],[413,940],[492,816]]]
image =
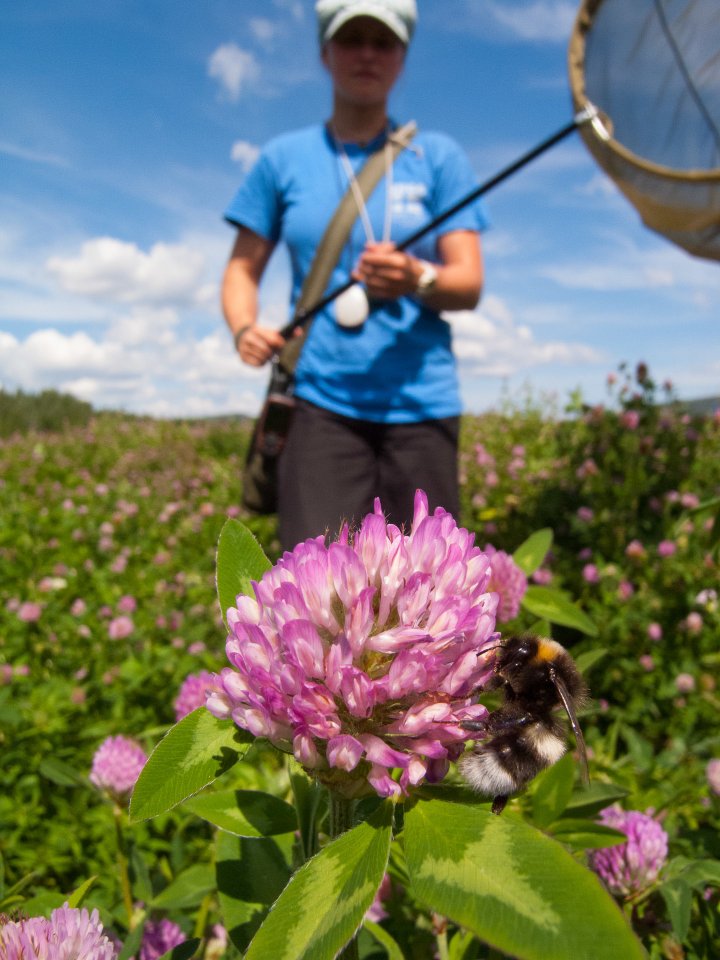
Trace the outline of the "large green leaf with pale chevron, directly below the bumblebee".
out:
[[[527,960],[645,956],[597,877],[512,815],[426,801],[406,813],[405,834],[411,891],[506,953]]]

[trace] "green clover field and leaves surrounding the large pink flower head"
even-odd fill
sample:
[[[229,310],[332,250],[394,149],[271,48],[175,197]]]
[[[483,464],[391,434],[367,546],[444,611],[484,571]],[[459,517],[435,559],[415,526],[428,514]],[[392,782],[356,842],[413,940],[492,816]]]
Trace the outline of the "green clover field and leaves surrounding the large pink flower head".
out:
[[[630,937],[583,866],[621,839],[596,822],[619,802],[653,810],[671,849],[650,888],[618,898],[625,917],[653,960],[716,956],[718,417],[659,403],[640,369],[606,407],[578,398],[559,417],[526,401],[465,419],[461,521],[530,581],[503,633],[552,635],[586,674],[591,784],[576,786],[568,755],[496,818],[451,779],[392,824],[386,804],[358,804],[331,842],[327,791],[276,751],[204,711],[171,727],[185,677],[225,663],[220,611],[267,569],[260,544],[278,554],[274,518],[234,519],[248,424],[25,399],[0,394],[0,912],[97,907],[127,957],[159,916],[188,937],[174,960],[201,957],[219,921],[229,960],[284,955],[283,935],[297,956],[334,956],[385,873],[387,915],[365,924],[360,957],[561,956],[543,940],[556,917],[568,945],[586,914],[597,942]],[[131,631],[113,639],[121,615]],[[152,753],[131,826],[88,781],[111,734]],[[295,940],[288,918],[306,913]]]

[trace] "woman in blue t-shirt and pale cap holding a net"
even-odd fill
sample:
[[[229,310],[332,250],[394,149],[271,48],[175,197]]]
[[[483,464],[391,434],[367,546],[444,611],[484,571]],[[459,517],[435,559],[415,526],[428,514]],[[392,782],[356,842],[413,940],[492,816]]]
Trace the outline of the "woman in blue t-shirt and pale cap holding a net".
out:
[[[388,98],[416,20],[415,0],[320,0],[316,11],[331,117],[272,140],[225,213],[238,234],[223,310],[240,358],[253,366],[283,345],[276,330],[257,323],[270,254],[278,241],[287,244],[294,301],[337,204],[395,126]],[[315,317],[303,346],[279,469],[284,549],[359,520],[377,496],[391,521],[408,525],[418,487],[431,509],[457,513],[460,397],[450,328],[439,312],[479,300],[482,211],[464,208],[412,250],[395,244],[474,187],[458,146],[421,131],[370,198],[356,199],[358,220],[328,289],[352,273],[370,313],[348,329],[337,322],[344,308],[336,301]]]

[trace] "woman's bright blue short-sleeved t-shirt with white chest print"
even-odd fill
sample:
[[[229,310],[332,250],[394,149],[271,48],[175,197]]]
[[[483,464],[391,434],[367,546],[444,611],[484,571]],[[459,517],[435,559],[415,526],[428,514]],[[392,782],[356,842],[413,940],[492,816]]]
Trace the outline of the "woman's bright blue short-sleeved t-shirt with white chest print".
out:
[[[355,173],[381,142],[378,138],[366,147],[344,144]],[[418,133],[393,164],[391,239],[401,242],[476,185],[467,157],[452,139]],[[230,223],[287,245],[292,305],[347,186],[333,139],[317,125],[270,141],[225,211]],[[376,239],[383,234],[386,197],[383,178],[367,200]],[[453,230],[479,231],[485,225],[482,206],[475,202],[409,252],[437,262],[438,236]],[[326,292],[347,280],[365,242],[358,217]],[[295,393],[335,413],[380,423],[455,416],[461,403],[450,327],[415,298],[401,297],[373,301],[363,326],[348,330],[335,322],[331,303],[312,321],[296,370]]]

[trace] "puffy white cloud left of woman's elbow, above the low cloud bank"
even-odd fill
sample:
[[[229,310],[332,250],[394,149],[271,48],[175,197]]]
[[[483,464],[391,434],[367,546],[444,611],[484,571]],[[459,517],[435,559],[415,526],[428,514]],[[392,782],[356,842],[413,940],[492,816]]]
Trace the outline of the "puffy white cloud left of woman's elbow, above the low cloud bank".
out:
[[[149,253],[113,237],[88,240],[74,257],[51,257],[48,270],[70,293],[118,303],[193,301],[205,267],[184,245],[156,243]]]

